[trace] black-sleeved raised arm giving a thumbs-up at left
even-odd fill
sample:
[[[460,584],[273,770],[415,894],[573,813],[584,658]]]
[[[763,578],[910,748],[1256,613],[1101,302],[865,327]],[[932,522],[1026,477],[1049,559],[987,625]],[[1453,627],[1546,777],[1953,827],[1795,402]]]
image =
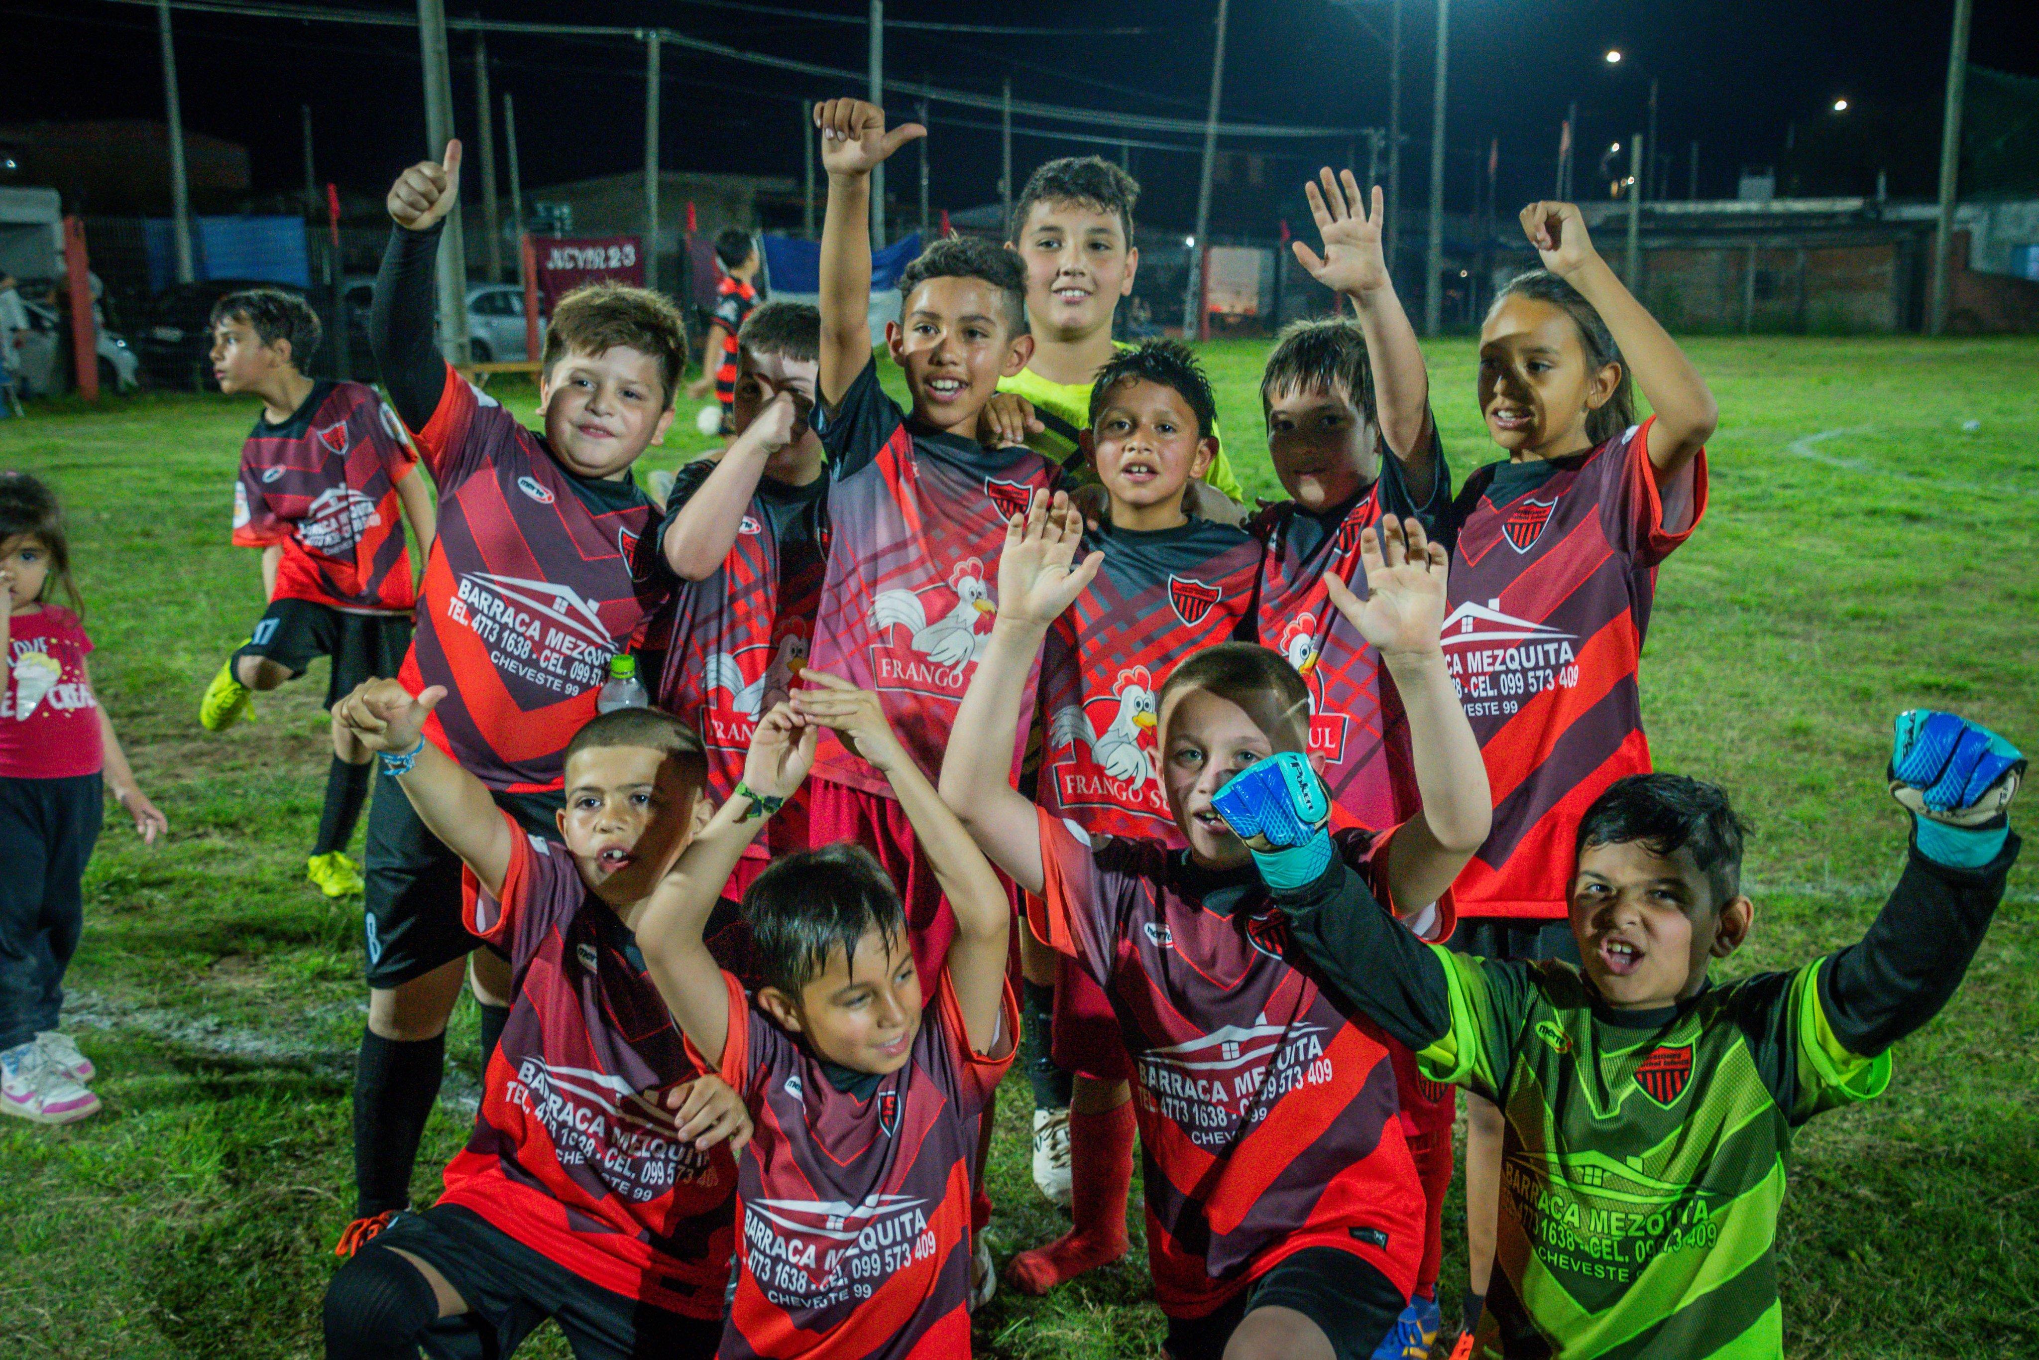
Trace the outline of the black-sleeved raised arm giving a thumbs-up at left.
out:
[[[440,222],[461,196],[461,143],[447,143],[445,161],[418,161],[389,186],[389,245],[375,273],[369,308],[369,349],[389,389],[389,404],[412,430],[422,430],[447,387],[447,361],[434,338],[432,275]]]

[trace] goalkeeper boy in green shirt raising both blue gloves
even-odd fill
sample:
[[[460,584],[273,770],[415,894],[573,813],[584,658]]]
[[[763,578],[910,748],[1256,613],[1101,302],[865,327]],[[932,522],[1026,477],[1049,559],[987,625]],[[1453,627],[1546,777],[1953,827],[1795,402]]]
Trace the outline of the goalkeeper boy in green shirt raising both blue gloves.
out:
[[[1580,969],[1423,944],[1325,854],[1323,787],[1262,761],[1217,793],[1299,946],[1417,1052],[1501,1105],[1497,1274],[1470,1348],[1497,1358],[1782,1356],[1776,1219],[1792,1132],[1890,1083],[1890,1046],[1953,995],[2019,854],[2023,756],[1953,714],[1896,720],[1913,816],[1896,889],[1860,944],[1709,983],[1749,936],[1743,824],[1676,775],[1607,789],[1578,826]],[[1407,905],[1407,903],[1403,903]]]

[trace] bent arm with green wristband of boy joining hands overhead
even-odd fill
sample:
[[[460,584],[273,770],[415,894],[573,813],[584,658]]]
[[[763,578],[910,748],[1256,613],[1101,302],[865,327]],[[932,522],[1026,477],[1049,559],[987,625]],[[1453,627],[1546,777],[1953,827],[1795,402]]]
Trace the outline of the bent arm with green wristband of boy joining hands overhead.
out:
[[[622,913],[673,1022],[712,1064],[722,1062],[722,1050],[730,1042],[730,991],[701,932],[744,848],[807,777],[814,736],[816,728],[787,703],[765,714],[750,736],[736,793],[722,803],[650,897]]]

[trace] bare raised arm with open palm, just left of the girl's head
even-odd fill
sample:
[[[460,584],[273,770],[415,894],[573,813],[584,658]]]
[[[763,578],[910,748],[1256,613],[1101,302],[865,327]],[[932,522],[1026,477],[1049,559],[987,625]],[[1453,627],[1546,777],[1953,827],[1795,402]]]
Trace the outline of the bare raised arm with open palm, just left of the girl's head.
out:
[[[1374,375],[1374,418],[1380,438],[1401,461],[1409,495],[1421,506],[1429,502],[1437,467],[1435,442],[1429,436],[1429,369],[1423,367],[1415,326],[1403,312],[1387,255],[1380,251],[1380,228],[1387,222],[1380,186],[1374,186],[1368,212],[1360,181],[1350,169],[1344,181],[1334,177],[1329,167],[1317,171],[1317,177],[1323,188],[1305,184],[1303,194],[1309,198],[1311,216],[1317,218],[1323,255],[1295,241],[1295,257],[1313,279],[1352,298],[1360,314],[1360,332],[1366,336],[1366,363]]]

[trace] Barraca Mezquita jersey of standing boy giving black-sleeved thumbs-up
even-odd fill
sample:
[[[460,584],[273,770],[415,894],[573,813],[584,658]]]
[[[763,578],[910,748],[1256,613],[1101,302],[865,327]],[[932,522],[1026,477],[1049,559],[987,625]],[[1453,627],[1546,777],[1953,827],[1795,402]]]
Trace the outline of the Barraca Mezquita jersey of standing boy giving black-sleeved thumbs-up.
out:
[[[438,483],[438,538],[404,687],[447,685],[424,734],[475,779],[557,789],[610,657],[671,589],[657,540],[640,542],[659,508],[630,475],[563,469],[451,365],[418,447]]]

